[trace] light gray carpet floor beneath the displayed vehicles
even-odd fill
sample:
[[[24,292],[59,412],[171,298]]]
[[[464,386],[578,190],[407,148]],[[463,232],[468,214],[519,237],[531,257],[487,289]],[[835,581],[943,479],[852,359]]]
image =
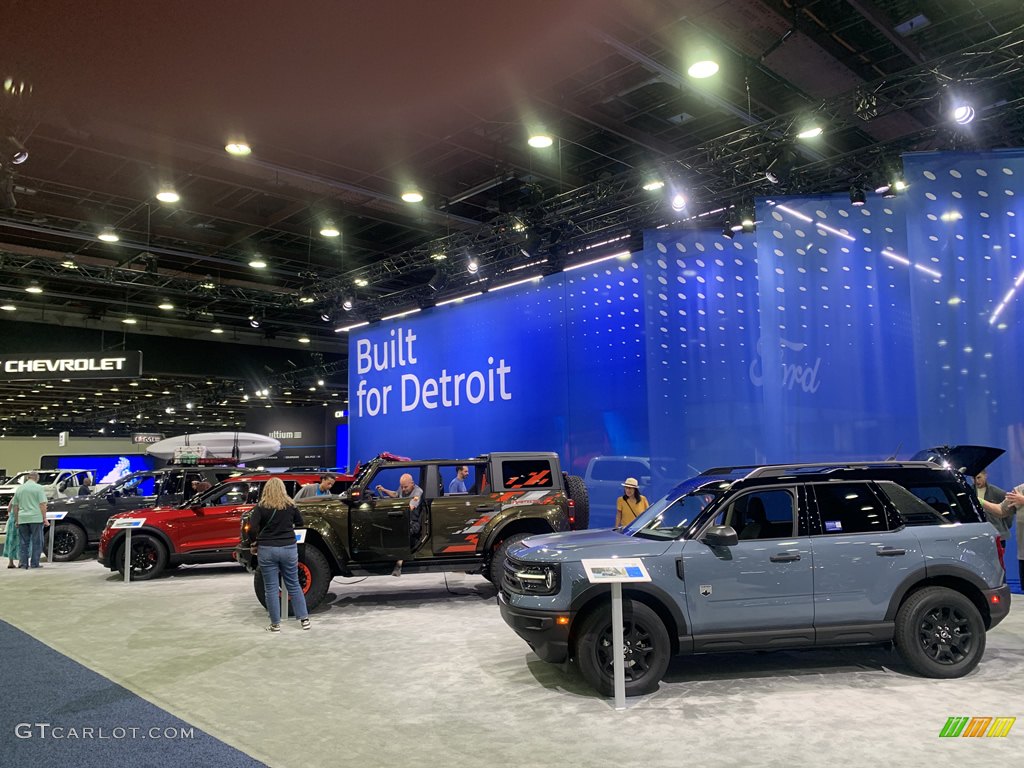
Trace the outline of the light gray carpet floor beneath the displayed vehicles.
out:
[[[1024,746],[1024,604],[959,680],[882,648],[692,656],[615,712],[540,662],[480,577],[336,580],[329,601],[311,632],[271,635],[234,565],[131,585],[91,560],[0,569],[0,618],[275,768],[1012,764]],[[939,738],[952,716],[1021,721]]]

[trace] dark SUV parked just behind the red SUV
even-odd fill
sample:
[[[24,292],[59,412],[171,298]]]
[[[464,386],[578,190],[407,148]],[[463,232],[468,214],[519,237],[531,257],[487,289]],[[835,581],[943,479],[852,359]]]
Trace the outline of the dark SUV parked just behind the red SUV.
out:
[[[251,471],[238,467],[164,467],[132,472],[91,496],[51,502],[49,512],[66,513],[53,530],[53,559],[74,560],[86,547],[96,547],[111,515],[180,504],[193,497],[194,480],[204,483],[205,489]]]

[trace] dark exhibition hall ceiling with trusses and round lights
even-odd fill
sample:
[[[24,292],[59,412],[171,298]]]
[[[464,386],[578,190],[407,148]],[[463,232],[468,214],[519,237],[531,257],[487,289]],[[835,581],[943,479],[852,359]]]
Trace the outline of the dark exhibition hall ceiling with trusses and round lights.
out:
[[[268,367],[274,401],[286,388],[309,392],[296,403],[344,399],[337,328],[756,195],[868,185],[901,152],[1024,143],[1019,0],[0,7],[0,141],[29,151],[0,164],[0,302],[15,307],[0,352],[18,324],[93,329],[97,344],[130,331],[297,350],[287,375]],[[686,65],[702,47],[721,70],[697,81]],[[958,92],[978,111],[967,129],[948,120]],[[822,136],[795,140],[811,118]],[[551,147],[526,144],[537,124]],[[250,156],[224,152],[240,139]],[[687,208],[645,190],[651,175],[682,185]],[[165,185],[179,202],[156,199]],[[400,199],[409,185],[423,202]],[[340,237],[321,234],[327,222]],[[97,240],[108,227],[117,243]],[[146,358],[153,400],[206,381],[169,357]],[[296,386],[325,372],[333,391]],[[257,385],[240,373],[199,388],[244,407]],[[72,406],[92,384],[66,393],[67,411],[31,389],[0,386],[8,433],[126,410],[170,428],[142,395],[84,412]],[[195,426],[219,426],[219,411]]]

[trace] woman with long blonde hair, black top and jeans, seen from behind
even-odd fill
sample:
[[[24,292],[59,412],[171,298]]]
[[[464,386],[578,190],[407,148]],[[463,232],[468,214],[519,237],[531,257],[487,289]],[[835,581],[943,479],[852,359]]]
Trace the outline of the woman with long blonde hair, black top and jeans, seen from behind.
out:
[[[295,527],[304,525],[302,515],[285,490],[280,477],[271,477],[263,486],[263,495],[249,517],[249,541],[256,547],[259,569],[263,574],[266,609],[270,612],[267,632],[281,632],[281,597],[279,575],[285,580],[288,596],[299,625],[308,630],[309,611],[299,586],[299,547],[295,543]]]

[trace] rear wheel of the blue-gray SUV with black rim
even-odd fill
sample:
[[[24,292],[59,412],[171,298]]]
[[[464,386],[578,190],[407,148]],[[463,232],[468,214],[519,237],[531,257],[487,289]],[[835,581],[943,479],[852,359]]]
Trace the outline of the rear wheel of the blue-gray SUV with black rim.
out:
[[[926,587],[903,601],[896,613],[896,649],[925,677],[963,677],[985,652],[985,623],[978,607],[959,592]]]

